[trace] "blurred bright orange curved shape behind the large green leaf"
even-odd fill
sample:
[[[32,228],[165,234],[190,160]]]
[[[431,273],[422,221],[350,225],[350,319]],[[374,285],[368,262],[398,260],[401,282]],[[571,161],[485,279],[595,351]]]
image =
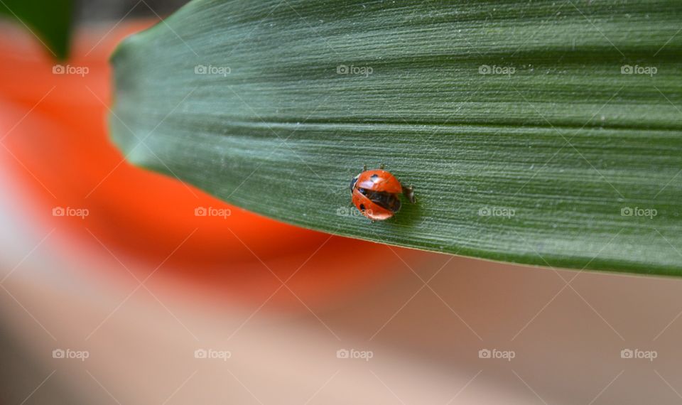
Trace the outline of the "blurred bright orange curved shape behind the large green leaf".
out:
[[[77,38],[64,65],[87,67],[82,76],[53,74],[55,61],[21,31],[0,39],[6,153],[33,199],[33,215],[46,227],[64,229],[78,239],[66,249],[102,249],[99,239],[117,256],[146,266],[166,260],[163,273],[183,283],[260,301],[323,244],[328,247],[313,260],[325,266],[301,269],[289,284],[305,300],[331,299],[347,288],[361,288],[359,284],[371,283],[399,264],[394,255],[374,254],[386,247],[342,237],[328,240],[329,235],[251,214],[191,185],[130,166],[107,137],[112,97],[108,58],[121,38],[152,23],[139,21],[102,37]],[[30,114],[23,117],[26,111]],[[85,208],[89,215],[53,217],[53,207]],[[197,207],[227,208],[231,215],[197,217]],[[406,257],[419,255],[399,250]],[[354,257],[362,257],[362,265]]]

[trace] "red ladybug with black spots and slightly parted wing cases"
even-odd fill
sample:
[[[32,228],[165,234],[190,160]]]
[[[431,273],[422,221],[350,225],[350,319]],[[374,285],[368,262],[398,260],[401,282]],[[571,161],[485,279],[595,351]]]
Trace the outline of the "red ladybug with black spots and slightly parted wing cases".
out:
[[[350,193],[355,207],[372,221],[388,220],[400,210],[400,195],[404,194],[414,203],[412,187],[405,187],[396,176],[379,169],[367,170],[355,176],[350,182]]]

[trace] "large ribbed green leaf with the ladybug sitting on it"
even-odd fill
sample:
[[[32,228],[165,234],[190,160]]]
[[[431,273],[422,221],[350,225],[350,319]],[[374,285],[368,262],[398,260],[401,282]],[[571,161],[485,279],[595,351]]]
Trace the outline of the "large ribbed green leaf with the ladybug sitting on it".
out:
[[[120,45],[109,123],[132,163],[303,227],[682,275],[680,21],[678,0],[195,0]],[[417,203],[371,224],[349,184],[380,163]]]

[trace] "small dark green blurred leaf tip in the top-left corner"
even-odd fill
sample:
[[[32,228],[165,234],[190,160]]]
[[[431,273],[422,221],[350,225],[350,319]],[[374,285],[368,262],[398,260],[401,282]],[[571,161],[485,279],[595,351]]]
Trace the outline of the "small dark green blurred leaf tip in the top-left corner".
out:
[[[0,14],[14,18],[58,59],[69,55],[73,0],[0,0]]]

